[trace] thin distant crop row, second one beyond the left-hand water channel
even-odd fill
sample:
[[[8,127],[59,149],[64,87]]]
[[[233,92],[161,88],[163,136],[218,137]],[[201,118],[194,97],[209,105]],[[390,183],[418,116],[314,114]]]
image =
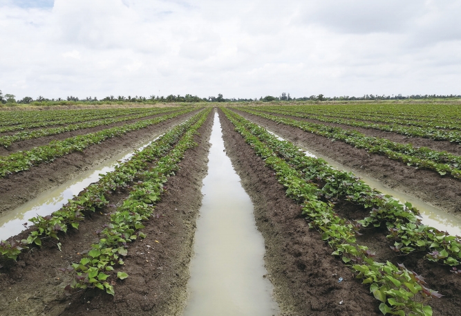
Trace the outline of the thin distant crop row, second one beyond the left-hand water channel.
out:
[[[60,133],[65,133],[67,131],[77,131],[79,129],[90,129],[92,127],[98,127],[101,125],[109,125],[118,122],[125,122],[128,120],[137,120],[138,118],[145,118],[147,116],[164,113],[164,112],[171,112],[173,109],[153,109],[151,111],[147,111],[141,114],[136,115],[129,115],[123,116],[122,118],[106,118],[104,120],[93,120],[91,122],[84,122],[79,124],[69,124],[65,127],[53,127],[50,129],[36,129],[34,131],[20,131],[15,133],[14,135],[10,136],[0,136],[0,145],[4,147],[8,147],[12,145],[13,142],[19,142],[21,140],[30,140],[33,138],[39,138],[44,136],[51,136],[57,135]]]

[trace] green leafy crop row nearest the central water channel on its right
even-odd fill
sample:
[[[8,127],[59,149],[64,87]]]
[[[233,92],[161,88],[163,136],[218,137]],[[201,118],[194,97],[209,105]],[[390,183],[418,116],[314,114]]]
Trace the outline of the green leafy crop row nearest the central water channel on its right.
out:
[[[335,250],[333,254],[341,256],[345,263],[356,263],[352,268],[359,272],[358,278],[364,279],[366,284],[371,284],[370,291],[382,301],[379,309],[384,315],[432,315],[431,307],[424,305],[424,302],[441,295],[426,288],[422,277],[406,270],[403,265],[394,266],[390,262],[374,261],[368,248],[357,244],[354,225],[339,218],[332,210],[332,203],[319,200],[317,185],[300,178],[299,171],[290,167],[244,127],[243,119],[236,119],[236,114],[230,113],[227,109],[223,111],[236,127],[236,131],[254,148],[256,154],[276,171],[279,182],[287,188],[287,195],[302,203],[303,214],[310,219],[310,227],[323,232],[322,238]],[[256,124],[253,125],[254,129],[258,129]],[[417,301],[419,296],[423,301]]]

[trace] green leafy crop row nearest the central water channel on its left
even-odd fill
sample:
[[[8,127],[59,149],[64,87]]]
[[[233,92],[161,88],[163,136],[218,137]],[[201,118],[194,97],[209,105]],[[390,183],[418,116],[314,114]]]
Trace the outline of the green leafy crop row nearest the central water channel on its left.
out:
[[[210,111],[211,109],[207,109],[200,113],[199,120],[189,127],[169,154],[160,158],[151,169],[138,174],[142,180],[133,186],[123,205],[111,214],[111,223],[105,225],[106,227],[99,232],[103,236],[100,242],[93,244],[91,250],[79,263],[73,263],[71,267],[62,269],[75,276],[72,283],[66,286],[67,291],[89,286],[106,290],[111,295],[115,294],[113,284],[106,281],[110,275],[104,272],[113,271],[115,266],[123,265],[122,257],[128,253],[127,243],[134,241],[138,236],[141,238],[146,236],[142,232],[136,234],[136,231],[144,227],[142,221],[149,220],[154,205],[160,199],[163,183],[166,183],[168,177],[179,169],[178,163],[185,151],[197,145],[194,142],[194,135],[205,122]],[[128,275],[125,272],[117,272],[118,279],[126,279],[126,277]]]

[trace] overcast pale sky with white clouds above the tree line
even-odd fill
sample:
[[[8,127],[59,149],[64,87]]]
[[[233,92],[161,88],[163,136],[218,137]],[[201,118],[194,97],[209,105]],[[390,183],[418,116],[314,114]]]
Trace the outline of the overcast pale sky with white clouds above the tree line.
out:
[[[0,90],[461,94],[460,15],[460,0],[0,0]]]

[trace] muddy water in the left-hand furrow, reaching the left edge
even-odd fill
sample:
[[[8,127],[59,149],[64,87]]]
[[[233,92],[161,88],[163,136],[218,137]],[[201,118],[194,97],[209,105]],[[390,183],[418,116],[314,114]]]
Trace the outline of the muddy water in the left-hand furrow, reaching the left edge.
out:
[[[138,150],[143,149],[160,136],[153,135],[153,137],[155,137],[155,139],[144,143],[144,145],[138,148]],[[101,175],[113,171],[115,166],[117,166],[120,162],[129,160],[133,154],[134,151],[131,151],[129,153],[122,153],[114,156],[110,160],[106,160],[102,162],[102,164],[97,165],[97,167],[79,174],[72,180],[40,194],[37,198],[34,198],[20,207],[17,207],[15,210],[1,216],[0,240],[6,240],[10,236],[19,234],[22,230],[24,230],[24,226],[22,225],[23,223],[27,223],[27,225],[32,224],[28,221],[28,219],[37,215],[46,216],[59,210],[62,205],[67,203],[68,199],[73,198],[73,196],[82,192],[83,189],[88,187],[88,185],[91,185],[91,183],[95,183],[100,180]]]

